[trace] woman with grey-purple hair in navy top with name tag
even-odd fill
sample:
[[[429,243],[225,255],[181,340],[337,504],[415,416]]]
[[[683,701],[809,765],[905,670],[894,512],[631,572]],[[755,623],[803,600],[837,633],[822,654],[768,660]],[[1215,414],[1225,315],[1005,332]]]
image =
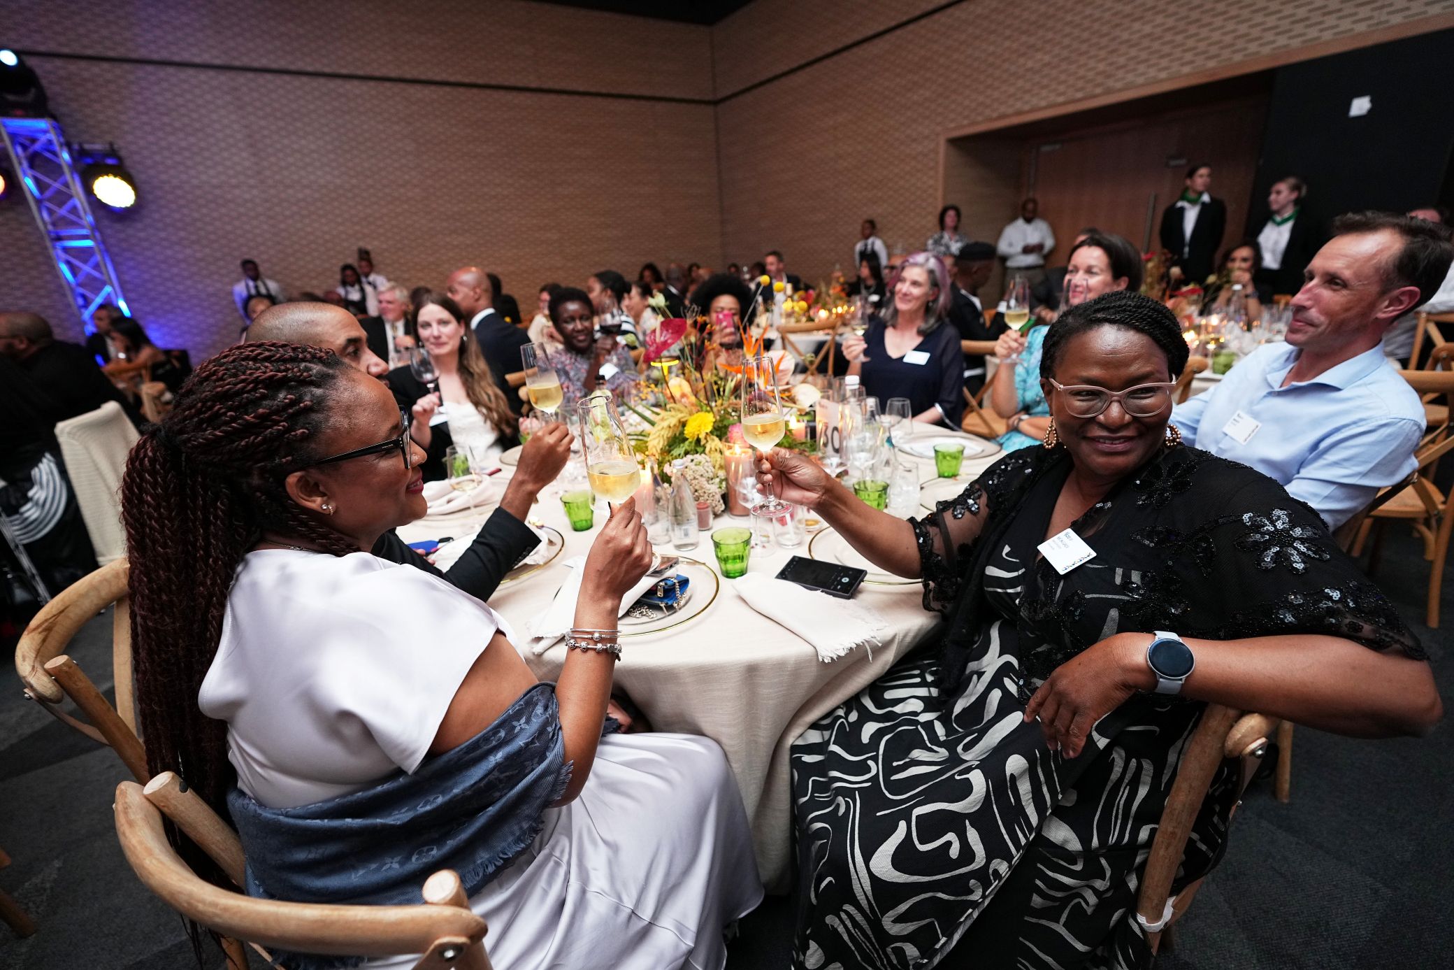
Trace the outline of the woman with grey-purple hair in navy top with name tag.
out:
[[[887,401],[907,397],[913,419],[960,426],[964,353],[949,318],[949,273],[933,253],[915,253],[888,281],[888,307],[861,337],[843,340],[864,390]]]

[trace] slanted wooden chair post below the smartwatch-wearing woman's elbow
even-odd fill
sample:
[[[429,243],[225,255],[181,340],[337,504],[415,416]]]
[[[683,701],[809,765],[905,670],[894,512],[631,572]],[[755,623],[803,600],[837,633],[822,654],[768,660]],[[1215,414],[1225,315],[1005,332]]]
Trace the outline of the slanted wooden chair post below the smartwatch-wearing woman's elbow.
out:
[[[1141,896],[1136,907],[1136,918],[1146,928],[1153,953],[1160,939],[1166,900],[1172,891],[1172,880],[1176,877],[1176,870],[1185,855],[1192,822],[1195,822],[1197,811],[1207,797],[1213,775],[1223,762],[1227,731],[1236,723],[1237,714],[1230,707],[1208,704],[1186,750],[1182,752],[1176,779],[1172,782],[1160,825],[1156,827],[1152,854],[1146,859]]]

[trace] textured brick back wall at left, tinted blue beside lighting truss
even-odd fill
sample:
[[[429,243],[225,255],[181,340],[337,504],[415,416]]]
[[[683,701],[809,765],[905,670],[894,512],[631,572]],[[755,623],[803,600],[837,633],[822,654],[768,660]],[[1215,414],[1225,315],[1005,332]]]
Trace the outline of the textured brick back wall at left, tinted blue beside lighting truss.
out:
[[[22,49],[705,99],[707,28],[531,3],[6,4]],[[19,15],[9,12],[19,7]],[[667,55],[670,54],[670,57]],[[132,311],[193,355],[237,333],[254,256],[288,292],[379,272],[441,286],[481,263],[523,308],[647,259],[717,262],[710,103],[631,100],[36,57],[73,141],[116,141],[135,212],[97,212]],[[0,207],[0,305],[76,334],[22,199]]]

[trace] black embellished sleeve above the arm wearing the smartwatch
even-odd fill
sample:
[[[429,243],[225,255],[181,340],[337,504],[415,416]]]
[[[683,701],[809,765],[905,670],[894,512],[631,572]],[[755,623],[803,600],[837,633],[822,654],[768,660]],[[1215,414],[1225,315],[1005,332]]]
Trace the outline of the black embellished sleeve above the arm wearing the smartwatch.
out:
[[[1131,535],[1160,560],[1159,576],[1144,583],[1157,615],[1179,617],[1178,633],[1211,640],[1328,634],[1426,656],[1313,509],[1250,468],[1188,451],[1192,461],[1163,462],[1133,493],[1146,503],[1181,493],[1176,525]]]

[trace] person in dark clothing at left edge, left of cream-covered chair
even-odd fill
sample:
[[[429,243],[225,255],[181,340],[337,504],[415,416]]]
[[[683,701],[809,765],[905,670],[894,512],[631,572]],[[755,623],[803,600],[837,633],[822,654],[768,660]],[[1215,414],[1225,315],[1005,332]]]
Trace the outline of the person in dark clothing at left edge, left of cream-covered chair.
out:
[[[134,407],[122,397],[96,358],[79,343],[57,340],[51,324],[38,313],[0,313],[0,353],[20,365],[51,400],[55,420],[93,412],[116,401],[138,422]]]

